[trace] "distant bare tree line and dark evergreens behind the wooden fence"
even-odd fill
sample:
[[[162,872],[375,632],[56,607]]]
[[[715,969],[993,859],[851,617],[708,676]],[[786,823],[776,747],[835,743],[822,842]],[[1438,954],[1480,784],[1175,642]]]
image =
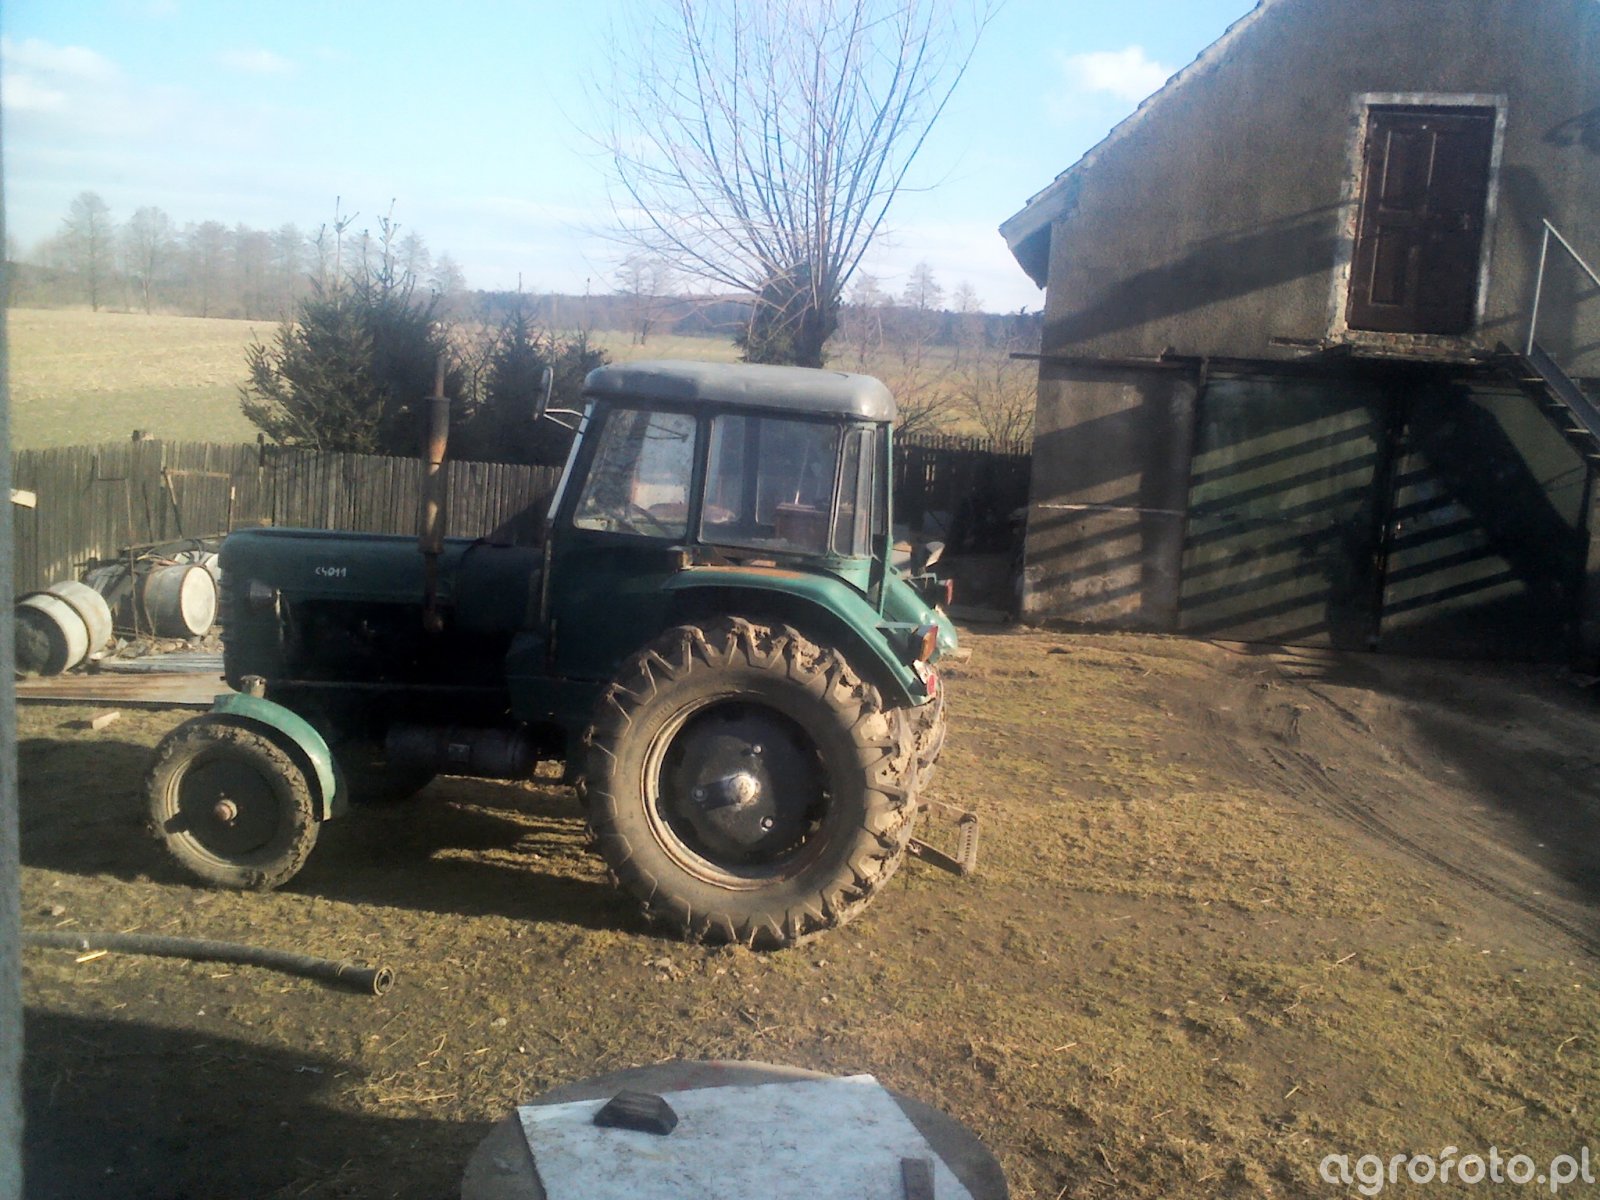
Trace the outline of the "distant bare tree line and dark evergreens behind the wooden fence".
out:
[[[458,454],[512,462],[565,456],[558,427],[531,424],[533,395],[550,366],[557,406],[578,405],[584,373],[605,362],[594,330],[626,330],[638,346],[662,333],[722,336],[757,358],[763,298],[685,294],[683,277],[654,254],[627,254],[605,294],[467,293],[454,261],[392,214],[376,232],[357,219],[336,206],[310,234],[219,221],[178,230],[150,206],[118,224],[83,192],[27,269],[13,264],[10,302],[277,318],[275,339],[250,347],[245,414],[278,443],[355,453],[416,451],[442,354]],[[984,312],[965,282],[947,298],[918,262],[899,294],[859,272],[832,320],[822,360],[882,376],[902,430],[965,424],[1003,443],[1030,437],[1034,370],[1013,355],[1037,349],[1038,314]]]

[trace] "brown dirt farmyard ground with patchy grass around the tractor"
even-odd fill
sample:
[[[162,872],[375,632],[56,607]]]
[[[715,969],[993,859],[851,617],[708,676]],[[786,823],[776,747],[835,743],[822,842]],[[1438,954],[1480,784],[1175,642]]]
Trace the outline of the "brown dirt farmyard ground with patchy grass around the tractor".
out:
[[[1328,1195],[1328,1154],[1600,1160],[1584,680],[1155,637],[968,645],[934,794],[982,814],[981,874],[907,864],[858,922],[778,954],[643,928],[554,781],[442,781],[333,822],[280,893],[187,886],[138,798],[181,714],[96,733],[88,709],[26,707],[30,928],[398,976],[373,998],[27,950],[29,1194],[448,1197],[518,1101],[670,1058],[872,1072],[1045,1200]]]

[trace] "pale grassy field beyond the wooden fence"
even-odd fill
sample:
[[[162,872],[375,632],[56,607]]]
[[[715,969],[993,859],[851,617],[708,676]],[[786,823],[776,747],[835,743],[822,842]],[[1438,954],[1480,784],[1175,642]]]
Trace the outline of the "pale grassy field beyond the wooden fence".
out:
[[[10,309],[6,325],[14,450],[122,442],[134,429],[186,442],[256,440],[256,427],[238,410],[238,389],[245,382],[245,347],[270,341],[274,322]],[[723,338],[654,336],[645,346],[634,346],[626,331],[616,330],[600,330],[594,338],[613,360],[738,357]],[[939,350],[928,355],[918,378],[907,378],[886,355],[867,370],[904,402],[938,387],[936,376],[949,366],[949,350]],[[954,419],[944,427],[978,432]]]

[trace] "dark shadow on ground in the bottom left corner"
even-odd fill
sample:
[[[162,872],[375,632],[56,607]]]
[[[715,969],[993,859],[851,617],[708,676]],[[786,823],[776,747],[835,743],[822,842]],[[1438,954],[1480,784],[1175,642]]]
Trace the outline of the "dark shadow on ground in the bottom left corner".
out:
[[[26,1038],[32,1200],[454,1195],[486,1133],[325,1106],[336,1059],[192,1029],[29,1011]]]

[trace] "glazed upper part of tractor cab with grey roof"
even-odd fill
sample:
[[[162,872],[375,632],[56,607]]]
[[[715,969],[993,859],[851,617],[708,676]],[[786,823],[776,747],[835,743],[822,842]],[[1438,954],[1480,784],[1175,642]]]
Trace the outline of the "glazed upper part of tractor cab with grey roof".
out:
[[[894,398],[877,379],[731,363],[602,366],[557,528],[800,560],[867,590],[888,552]],[[563,488],[565,493],[565,488]],[[878,570],[872,570],[872,563]]]

